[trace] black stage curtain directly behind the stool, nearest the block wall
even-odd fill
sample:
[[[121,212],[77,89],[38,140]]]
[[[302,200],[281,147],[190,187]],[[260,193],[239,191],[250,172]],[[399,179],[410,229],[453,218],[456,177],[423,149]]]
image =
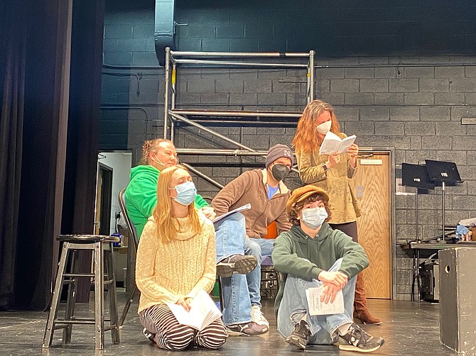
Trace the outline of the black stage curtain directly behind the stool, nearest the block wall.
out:
[[[103,28],[104,0],[73,2],[62,233],[94,232]],[[80,269],[90,270],[90,255],[81,255]],[[89,279],[80,279],[77,301],[86,302],[89,291]]]

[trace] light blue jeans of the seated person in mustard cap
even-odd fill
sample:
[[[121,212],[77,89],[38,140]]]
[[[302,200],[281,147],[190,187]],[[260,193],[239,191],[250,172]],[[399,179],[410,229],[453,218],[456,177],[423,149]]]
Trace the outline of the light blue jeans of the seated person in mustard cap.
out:
[[[329,271],[338,271],[342,258],[334,262]],[[310,316],[308,301],[305,297],[305,289],[319,287],[322,282],[317,279],[305,281],[288,274],[284,287],[283,299],[278,309],[278,331],[287,338],[294,330],[294,326],[304,316],[310,327],[309,344],[326,345],[337,342],[337,328],[347,323],[352,323],[352,305],[354,304],[354,292],[356,277],[349,279],[342,288],[344,295],[344,313],[324,316]]]

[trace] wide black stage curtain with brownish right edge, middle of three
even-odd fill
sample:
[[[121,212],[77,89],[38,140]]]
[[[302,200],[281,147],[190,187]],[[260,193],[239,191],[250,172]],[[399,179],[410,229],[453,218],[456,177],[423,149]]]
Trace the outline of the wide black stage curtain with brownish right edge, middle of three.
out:
[[[12,3],[13,1],[9,1]],[[18,1],[25,23],[25,103],[13,296],[9,308],[43,309],[50,300],[63,198],[71,3]]]

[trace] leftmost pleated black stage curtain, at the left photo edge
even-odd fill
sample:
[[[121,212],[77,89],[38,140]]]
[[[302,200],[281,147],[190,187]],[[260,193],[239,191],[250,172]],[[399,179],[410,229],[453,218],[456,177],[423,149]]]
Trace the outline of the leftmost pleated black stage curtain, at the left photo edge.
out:
[[[25,95],[26,28],[12,21],[24,13],[9,5],[0,11],[0,309],[13,302]]]

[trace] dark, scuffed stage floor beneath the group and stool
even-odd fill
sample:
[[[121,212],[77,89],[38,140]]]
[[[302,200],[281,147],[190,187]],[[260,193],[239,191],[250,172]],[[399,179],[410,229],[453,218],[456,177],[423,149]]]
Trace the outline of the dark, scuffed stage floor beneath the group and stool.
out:
[[[119,301],[124,301],[124,293],[119,293]],[[276,330],[273,300],[263,301],[264,313],[271,324],[271,330],[255,337],[229,338],[219,350],[191,349],[180,355],[290,355],[298,352],[295,347],[284,342]],[[124,302],[119,303],[119,313]],[[91,313],[94,304],[78,304],[77,310]],[[88,311],[89,309],[89,311]],[[369,309],[374,316],[381,318],[382,326],[364,326],[372,335],[381,336],[385,344],[372,355],[458,355],[440,344],[439,306],[422,302],[369,300]],[[136,313],[137,301],[121,329],[121,343],[112,345],[111,334],[105,334],[104,350],[94,352],[93,326],[73,326],[72,340],[68,345],[61,343],[62,330],[56,330],[53,345],[42,349],[46,312],[1,312],[0,313],[0,355],[163,355],[165,350],[151,344],[142,335],[142,326]],[[318,355],[356,355],[356,352],[339,351],[335,346],[308,347],[306,352]],[[171,352],[168,352],[171,353]],[[174,355],[178,355],[174,352]],[[293,354],[296,355],[296,354]]]

